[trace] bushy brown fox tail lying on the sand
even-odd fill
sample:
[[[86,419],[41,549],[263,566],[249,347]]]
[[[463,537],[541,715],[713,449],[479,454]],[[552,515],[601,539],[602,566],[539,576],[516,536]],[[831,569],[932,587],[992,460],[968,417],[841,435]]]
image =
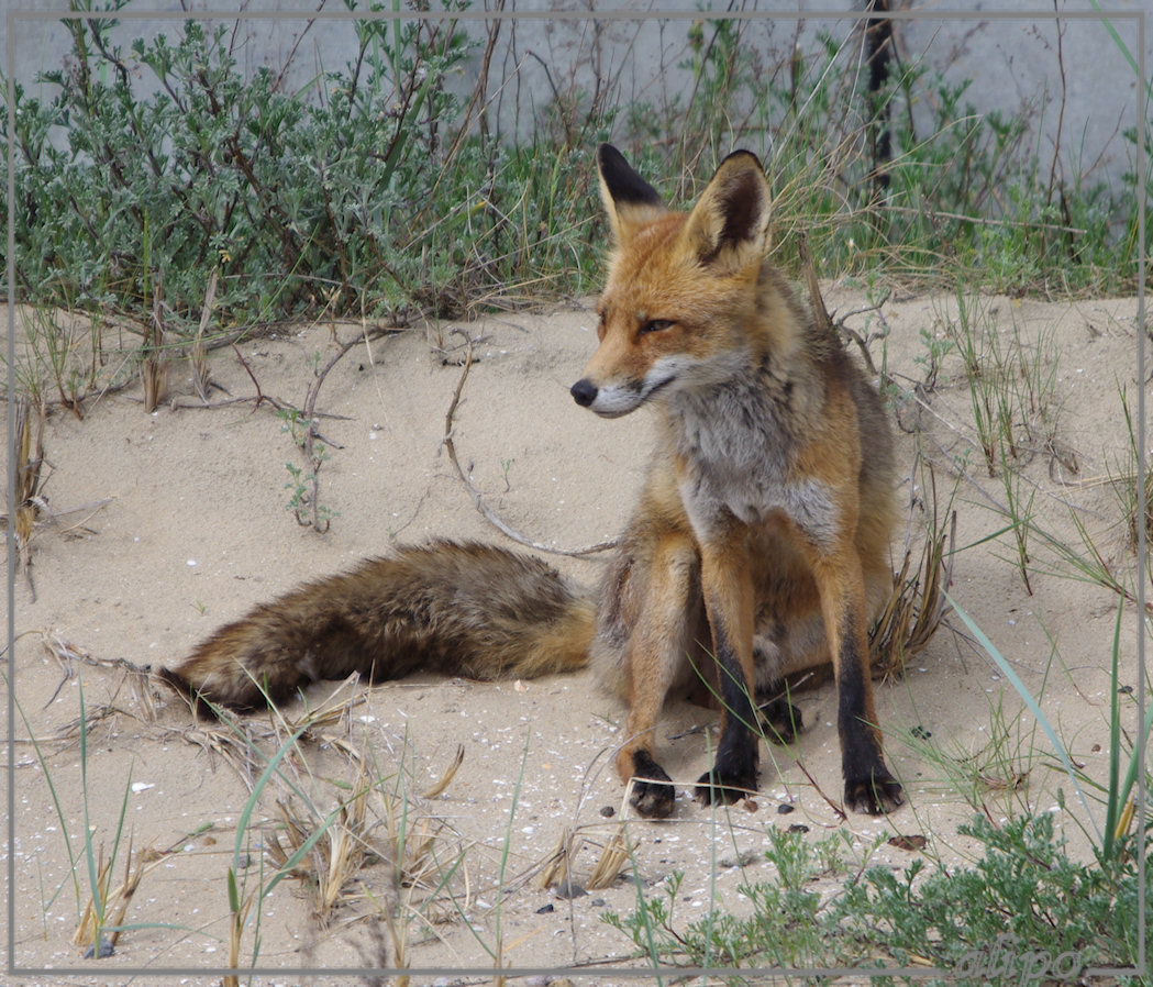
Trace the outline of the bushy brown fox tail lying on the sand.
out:
[[[434,542],[256,606],[160,677],[235,709],[353,672],[533,678],[583,668],[595,623],[591,596],[538,559]]]

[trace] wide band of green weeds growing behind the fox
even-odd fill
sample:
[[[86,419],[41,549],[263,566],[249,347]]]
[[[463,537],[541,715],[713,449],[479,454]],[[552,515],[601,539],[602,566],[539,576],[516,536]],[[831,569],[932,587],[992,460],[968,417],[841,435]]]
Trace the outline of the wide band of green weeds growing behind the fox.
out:
[[[18,288],[38,303],[150,318],[163,284],[166,329],[188,341],[213,272],[226,333],[300,312],[402,322],[575,294],[598,265],[591,153],[608,137],[675,203],[732,148],[761,151],[786,265],[805,229],[830,271],[937,278],[948,266],[994,287],[1073,289],[1110,268],[1132,277],[1117,261],[1132,241],[1110,231],[1131,189],[1042,167],[1032,107],[979,114],[969,83],[927,60],[903,60],[868,90],[859,33],[802,47],[769,22],[661,23],[671,55],[628,91],[576,45],[526,110],[533,126],[513,114],[513,134],[497,110],[521,66],[499,25],[351,20],[354,56],[291,91],[296,48],[246,74],[236,24],[130,38],[114,16],[126,3],[62,21],[69,56],[16,81],[12,135],[0,120],[16,149]],[[461,91],[470,59],[480,71]]]

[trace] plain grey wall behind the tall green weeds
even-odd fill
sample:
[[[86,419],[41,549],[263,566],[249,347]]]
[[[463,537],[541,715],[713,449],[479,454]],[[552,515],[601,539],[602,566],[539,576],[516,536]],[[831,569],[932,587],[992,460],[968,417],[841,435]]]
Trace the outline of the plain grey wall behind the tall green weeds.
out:
[[[345,65],[354,53],[355,40],[347,22],[317,20],[307,27],[306,16],[318,9],[346,10],[340,0],[249,0],[247,3],[186,0],[194,10],[236,10],[249,15],[276,15],[242,20],[236,53],[247,70],[259,66],[280,68],[289,53],[293,74],[288,84],[297,84],[325,68]],[[362,5],[367,6],[367,5]],[[492,9],[498,0],[476,0],[474,9]],[[596,20],[589,12],[636,12],[648,20]],[[507,0],[507,12],[548,12],[564,8],[579,12],[578,20],[515,20],[502,23],[496,48],[497,65],[507,85],[495,85],[490,96],[506,127],[525,128],[566,86],[590,88],[597,80],[619,78],[630,99],[653,101],[675,93],[683,84],[678,63],[686,53],[686,32],[691,20],[662,20],[662,12],[699,12],[698,0],[612,0],[601,3],[559,2],[559,0]],[[857,14],[862,3],[846,0],[732,0],[717,3],[755,16],[749,37],[761,52],[766,71],[787,63],[794,45],[811,50],[817,32],[845,40],[844,58],[860,59],[852,40]],[[1102,0],[1102,8],[1115,14],[1153,13],[1153,0]],[[0,12],[35,10],[44,14],[66,10],[67,0],[3,0]],[[895,9],[915,13],[896,22],[897,51],[902,60],[925,62],[939,68],[955,83],[969,81],[965,101],[980,112],[1028,113],[1039,160],[1053,161],[1060,176],[1105,181],[1118,187],[1121,176],[1133,168],[1135,148],[1125,138],[1137,127],[1138,80],[1117,39],[1098,15],[1090,0],[894,0]],[[179,12],[176,0],[133,0],[126,12]],[[1057,20],[1054,10],[1067,15]],[[830,16],[844,12],[845,16]],[[957,15],[960,16],[957,16]],[[1113,22],[1122,44],[1138,58],[1136,21],[1117,17]],[[1153,35],[1151,18],[1148,35]],[[133,21],[125,37],[151,31],[174,35],[172,22]],[[475,30],[483,35],[483,23]],[[15,59],[12,71],[25,85],[32,85],[37,71],[60,65],[68,48],[67,32],[53,20],[20,20],[13,39]],[[1153,65],[1153,38],[1145,38],[1146,58]],[[0,22],[0,58],[7,53],[7,18]],[[474,59],[480,59],[477,52]],[[474,70],[478,63],[474,62]],[[472,86],[468,70],[457,81],[462,90]],[[915,112],[915,107],[914,107]],[[763,152],[771,149],[759,149]]]

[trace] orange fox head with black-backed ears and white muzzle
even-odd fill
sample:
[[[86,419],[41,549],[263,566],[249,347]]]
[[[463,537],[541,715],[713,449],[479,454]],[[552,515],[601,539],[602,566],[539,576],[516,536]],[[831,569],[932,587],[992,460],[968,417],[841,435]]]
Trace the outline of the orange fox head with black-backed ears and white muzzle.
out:
[[[617,417],[747,366],[771,197],[748,151],[722,161],[687,213],[668,210],[616,148],[602,144],[597,166],[613,250],[597,304],[600,346],[572,395]]]

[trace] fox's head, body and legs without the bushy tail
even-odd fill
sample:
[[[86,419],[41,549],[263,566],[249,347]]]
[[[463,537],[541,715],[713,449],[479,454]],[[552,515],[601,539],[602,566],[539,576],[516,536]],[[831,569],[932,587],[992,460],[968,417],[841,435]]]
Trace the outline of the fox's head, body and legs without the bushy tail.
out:
[[[764,261],[770,201],[752,155],[730,156],[687,213],[616,150],[600,166],[615,249],[573,395],[605,417],[650,405],[661,424],[593,642],[630,705],[618,771],[640,779],[642,814],[672,811],[656,719],[673,684],[700,675],[723,711],[698,797],[737,798],[756,785],[756,693],[831,660],[846,800],[891,808],[900,786],[881,756],[867,641],[892,586],[880,400]]]

